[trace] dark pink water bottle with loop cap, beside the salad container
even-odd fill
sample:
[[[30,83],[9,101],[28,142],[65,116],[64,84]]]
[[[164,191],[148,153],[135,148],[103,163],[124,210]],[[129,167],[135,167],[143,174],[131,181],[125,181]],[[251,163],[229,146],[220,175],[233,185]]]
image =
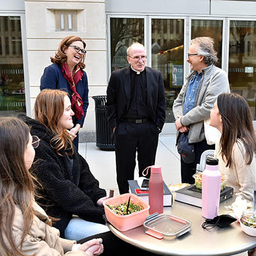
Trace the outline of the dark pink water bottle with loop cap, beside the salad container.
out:
[[[148,202],[150,205],[149,214],[154,212],[163,213],[164,184],[161,173],[161,166],[150,166],[150,178],[148,182]]]

